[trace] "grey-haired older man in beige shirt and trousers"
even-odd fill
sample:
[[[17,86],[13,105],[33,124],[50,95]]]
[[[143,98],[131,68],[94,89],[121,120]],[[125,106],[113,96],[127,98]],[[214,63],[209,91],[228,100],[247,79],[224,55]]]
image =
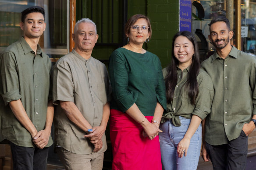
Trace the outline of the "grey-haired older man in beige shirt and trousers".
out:
[[[94,22],[78,21],[75,49],[53,68],[55,145],[67,170],[103,168],[111,87],[106,66],[91,56],[97,39]]]

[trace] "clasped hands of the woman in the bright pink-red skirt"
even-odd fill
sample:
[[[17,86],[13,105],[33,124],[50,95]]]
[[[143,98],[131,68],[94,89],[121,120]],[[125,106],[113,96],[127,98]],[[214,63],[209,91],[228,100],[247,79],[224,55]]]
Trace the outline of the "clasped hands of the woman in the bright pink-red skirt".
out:
[[[144,128],[144,131],[143,131],[144,134],[142,132],[142,135],[145,137],[145,133],[146,133],[146,135],[150,140],[154,139],[159,132],[163,132],[156,125],[154,125],[153,123],[150,123],[148,120],[142,122],[141,125]]]

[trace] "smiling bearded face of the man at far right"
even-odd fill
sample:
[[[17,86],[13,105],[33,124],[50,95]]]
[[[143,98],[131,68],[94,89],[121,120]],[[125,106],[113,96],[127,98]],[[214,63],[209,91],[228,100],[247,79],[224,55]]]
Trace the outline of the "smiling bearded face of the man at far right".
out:
[[[229,31],[228,26],[223,21],[215,22],[210,27],[210,35],[208,38],[213,43],[214,47],[224,49],[230,45],[230,39],[233,37],[233,31]]]

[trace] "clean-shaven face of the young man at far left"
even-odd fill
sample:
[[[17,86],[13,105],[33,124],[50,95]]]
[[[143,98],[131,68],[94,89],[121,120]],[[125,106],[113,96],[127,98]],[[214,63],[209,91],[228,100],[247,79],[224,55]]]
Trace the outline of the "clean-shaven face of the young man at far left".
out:
[[[27,14],[25,22],[21,22],[20,27],[24,31],[24,38],[39,38],[46,28],[43,14],[39,12]]]

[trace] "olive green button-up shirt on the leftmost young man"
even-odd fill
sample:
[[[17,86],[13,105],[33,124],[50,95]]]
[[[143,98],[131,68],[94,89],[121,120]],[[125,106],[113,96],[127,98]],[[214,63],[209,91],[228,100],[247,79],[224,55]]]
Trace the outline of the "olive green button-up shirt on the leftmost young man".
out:
[[[14,116],[8,103],[20,99],[37,131],[45,128],[50,91],[51,62],[37,46],[33,52],[22,37],[0,56],[0,138],[18,146],[36,147],[30,133]],[[0,140],[1,140],[0,139]],[[50,137],[46,147],[53,144]]]

